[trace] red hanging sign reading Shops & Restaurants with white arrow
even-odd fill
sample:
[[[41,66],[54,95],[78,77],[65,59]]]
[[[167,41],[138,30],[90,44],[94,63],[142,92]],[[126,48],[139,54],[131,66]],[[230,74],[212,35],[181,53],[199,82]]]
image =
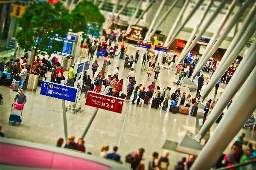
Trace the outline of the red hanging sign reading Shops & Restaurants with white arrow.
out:
[[[116,113],[122,113],[123,103],[123,99],[88,91],[85,105]]]

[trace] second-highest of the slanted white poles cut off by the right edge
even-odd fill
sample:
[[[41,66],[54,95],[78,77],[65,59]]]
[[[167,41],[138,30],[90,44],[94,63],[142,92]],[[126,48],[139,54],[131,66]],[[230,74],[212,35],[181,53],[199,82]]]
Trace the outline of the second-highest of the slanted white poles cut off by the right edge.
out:
[[[219,79],[221,79],[223,74],[227,71],[229,66],[236,59],[236,57],[238,56],[239,52],[244,48],[244,45],[248,42],[248,40],[254,34],[255,31],[256,31],[256,20],[254,20],[253,23],[251,23],[251,25],[249,26],[247,31],[244,33],[244,36],[241,38],[241,40],[239,42],[236,42],[237,45],[235,46],[235,48],[232,48],[233,51],[231,52],[229,57],[227,57],[227,60],[224,62],[224,64],[222,65],[220,63],[218,65],[218,68],[216,69],[216,71],[217,70],[219,70],[219,71],[217,73],[213,74],[213,75],[215,75],[215,77],[210,79],[209,84],[204,89],[204,92],[202,94],[202,99],[203,100],[208,96],[208,94],[210,93],[212,88],[216,85],[216,83],[219,81]],[[230,47],[228,49],[230,49]],[[221,62],[222,62],[223,59],[224,58],[221,59]]]

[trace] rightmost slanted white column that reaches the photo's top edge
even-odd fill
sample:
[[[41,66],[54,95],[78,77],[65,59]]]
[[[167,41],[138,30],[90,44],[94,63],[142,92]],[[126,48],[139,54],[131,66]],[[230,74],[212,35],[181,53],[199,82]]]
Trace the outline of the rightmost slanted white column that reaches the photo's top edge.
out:
[[[230,21],[230,23],[227,25],[227,28],[225,28],[225,30],[221,33],[221,36],[218,38],[217,42],[215,42],[215,40],[213,41],[211,39],[210,43],[214,44],[212,46],[212,48],[209,48],[209,45],[207,45],[207,48],[209,48],[209,52],[207,52],[207,54],[203,54],[201,60],[199,61],[197,67],[195,68],[192,77],[193,79],[197,76],[197,74],[199,73],[199,71],[201,71],[201,69],[204,67],[204,64],[207,63],[207,61],[210,59],[210,57],[212,57],[212,55],[215,53],[215,51],[218,49],[218,47],[221,45],[221,43],[223,42],[223,40],[227,37],[227,34],[229,34],[230,30],[233,28],[233,26],[235,26],[235,24],[237,23],[237,21],[239,20],[239,18],[242,16],[242,14],[244,13],[244,11],[246,11],[246,8],[251,4],[252,0],[247,0],[245,1],[245,3],[241,6],[241,8],[239,8],[239,11],[237,11],[237,13],[235,14],[235,16],[233,17],[233,19]],[[221,25],[220,25],[221,26]],[[224,26],[224,25],[223,25]],[[214,37],[214,36],[213,36]],[[216,37],[217,38],[217,37]],[[214,43],[215,42],[215,43]],[[209,43],[209,44],[210,44]],[[208,51],[206,49],[206,51]]]

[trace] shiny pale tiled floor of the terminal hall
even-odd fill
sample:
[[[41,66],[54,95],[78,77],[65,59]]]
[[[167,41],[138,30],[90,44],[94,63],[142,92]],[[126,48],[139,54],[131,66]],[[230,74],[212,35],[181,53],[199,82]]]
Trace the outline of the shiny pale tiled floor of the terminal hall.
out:
[[[128,47],[128,55],[135,56],[137,47],[134,47],[133,45],[125,45],[125,47]],[[141,83],[143,86],[147,87],[153,81],[154,76],[151,76],[149,81],[147,80],[147,74],[141,64],[144,51],[145,50],[140,48],[141,56],[138,63],[134,64],[133,67],[134,72],[136,73],[136,85]],[[92,59],[92,62],[94,59],[95,58]],[[123,92],[126,94],[126,86],[128,84],[127,76],[129,71],[123,69],[124,60],[115,57],[114,59],[110,59],[110,61],[111,65],[108,67],[107,74],[114,74],[116,67],[120,66],[119,79],[124,79]],[[98,59],[100,65],[99,68],[102,67],[103,62],[104,58],[100,57]],[[162,65],[162,61],[160,60],[159,62],[160,65]],[[96,74],[99,73],[99,71],[100,69],[98,69]],[[67,74],[66,71],[64,73],[66,78]],[[87,71],[87,75],[92,75],[91,69]],[[47,80],[49,81],[49,73],[47,74],[47,77]],[[155,86],[160,86],[160,91],[162,91],[163,88],[171,87],[172,94],[178,88],[177,85],[173,83],[175,80],[177,80],[175,71],[170,71],[161,67],[161,73],[159,74]],[[102,90],[104,90],[104,88],[102,88]],[[223,91],[223,89],[219,88],[219,92],[214,98],[215,90],[213,90],[209,94],[208,99],[218,99],[221,95],[221,91]],[[37,91],[24,91],[27,95],[27,103],[23,109],[22,123],[21,125],[12,126],[9,124],[8,120],[11,105],[17,92],[4,86],[0,87],[0,92],[4,99],[3,105],[0,106],[0,125],[3,127],[2,132],[5,133],[6,137],[49,145],[56,145],[58,138],[64,138],[61,99],[40,95],[40,87],[38,87]],[[191,93],[192,96],[195,96],[196,89],[181,87],[181,93],[183,92],[186,92],[186,94]],[[208,99],[205,99],[205,101]],[[67,113],[68,136],[76,136],[76,141],[81,137],[87,122],[89,122],[95,109],[86,106],[85,100],[84,94],[82,94],[81,100],[78,103],[82,105],[82,107],[78,114]],[[67,105],[70,105],[70,102],[66,102],[66,106]],[[203,111],[199,109],[198,117],[200,118],[200,115],[202,114]],[[190,115],[179,113],[172,114],[169,111],[162,111],[161,108],[154,109],[150,108],[150,105],[144,104],[140,108],[137,105],[133,105],[131,102],[125,102],[122,114],[99,109],[87,135],[85,136],[86,152],[91,152],[93,155],[99,156],[100,148],[103,145],[108,144],[110,148],[112,148],[113,146],[120,144],[118,153],[122,156],[122,161],[124,161],[127,153],[135,151],[140,147],[144,147],[145,160],[143,162],[147,167],[148,161],[154,151],[157,151],[162,155],[164,150],[168,149],[170,151],[170,168],[173,168],[178,160],[183,156],[188,157],[188,154],[175,152],[172,148],[172,144],[180,142],[181,139],[183,139],[186,130],[190,130],[192,133],[198,132],[198,128],[201,125],[201,122],[198,122],[198,117],[195,118]],[[124,126],[123,123],[125,123]],[[214,124],[212,126],[206,137],[209,137],[210,134],[214,133],[217,125],[218,124]],[[124,128],[123,133],[121,134],[122,127]],[[253,137],[254,131],[255,130],[241,129],[237,136],[241,133],[246,133],[245,140],[256,143],[255,136]]]

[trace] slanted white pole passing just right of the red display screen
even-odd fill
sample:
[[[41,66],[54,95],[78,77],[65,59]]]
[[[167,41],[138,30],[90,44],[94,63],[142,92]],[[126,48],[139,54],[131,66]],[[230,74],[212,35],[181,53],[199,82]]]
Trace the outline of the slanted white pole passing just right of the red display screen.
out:
[[[206,9],[205,9],[205,11],[204,11],[204,14],[201,16],[200,20],[198,21],[197,26],[196,26],[196,27],[194,28],[194,30],[192,31],[192,33],[191,33],[191,35],[190,35],[190,37],[189,37],[189,40],[187,41],[187,43],[186,43],[186,45],[185,45],[185,47],[184,47],[184,49],[183,49],[183,51],[182,51],[182,53],[181,53],[181,55],[180,55],[180,58],[179,58],[179,60],[178,60],[178,63],[181,63],[181,62],[183,61],[183,59],[186,57],[185,53],[186,53],[187,49],[189,48],[189,45],[191,44],[192,40],[194,39],[195,34],[197,33],[198,29],[200,28],[201,24],[203,23],[204,18],[205,18],[206,15],[208,14],[208,11],[209,11],[209,9],[211,8],[212,3],[213,3],[213,0],[210,0],[209,3],[208,3],[208,5],[207,5],[207,7],[206,7]],[[216,10],[215,13],[216,13],[217,11],[218,11],[218,10]],[[218,13],[218,12],[217,12],[217,13]],[[214,14],[212,14],[212,16],[214,16]],[[215,17],[213,17],[212,21],[214,20],[214,18],[215,18]],[[208,28],[208,26],[207,26],[207,24],[206,24],[206,28],[205,28],[205,29],[207,29],[207,28]],[[201,37],[201,36],[200,36],[200,37]],[[199,38],[200,38],[200,37],[199,37]],[[194,41],[195,41],[195,40],[194,40]],[[184,56],[184,57],[183,57],[183,56]]]

